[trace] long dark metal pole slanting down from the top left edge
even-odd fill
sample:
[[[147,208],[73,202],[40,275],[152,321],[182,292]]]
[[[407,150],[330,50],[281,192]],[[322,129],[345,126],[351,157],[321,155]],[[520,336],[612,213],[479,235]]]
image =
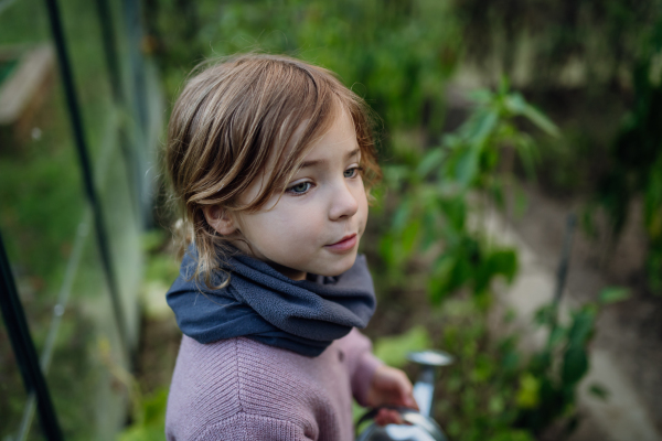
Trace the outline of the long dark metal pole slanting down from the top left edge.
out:
[[[55,49],[57,50],[57,60],[60,65],[60,75],[64,86],[64,93],[66,97],[66,104],[70,111],[70,120],[72,123],[72,131],[74,135],[74,141],[76,146],[76,152],[78,153],[78,161],[81,163],[81,171],[83,173],[83,186],[87,202],[92,207],[96,240],[99,247],[99,254],[102,257],[102,265],[108,289],[110,291],[110,300],[113,302],[113,312],[115,314],[115,321],[117,323],[119,337],[125,349],[125,354],[130,354],[129,341],[127,338],[127,326],[121,308],[121,301],[119,297],[119,289],[117,287],[117,279],[113,268],[113,260],[110,258],[110,247],[108,245],[108,235],[104,223],[104,215],[102,211],[102,204],[97,197],[97,193],[94,187],[92,164],[89,161],[89,154],[87,144],[85,141],[85,135],[83,130],[83,121],[81,118],[81,111],[78,106],[78,99],[76,97],[76,88],[74,87],[74,79],[72,75],[71,64],[66,50],[66,43],[64,40],[64,31],[62,29],[62,20],[60,19],[60,10],[57,7],[57,0],[45,0],[46,8],[49,10],[49,21],[51,22],[51,31],[53,32],[53,40],[55,41]]]

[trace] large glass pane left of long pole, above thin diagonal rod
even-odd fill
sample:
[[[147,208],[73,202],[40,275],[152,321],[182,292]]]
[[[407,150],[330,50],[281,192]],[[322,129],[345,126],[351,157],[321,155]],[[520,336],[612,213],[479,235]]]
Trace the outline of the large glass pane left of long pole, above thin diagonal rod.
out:
[[[42,29],[13,28],[25,17],[49,29],[40,1],[15,1],[0,14],[1,37],[28,42],[0,84],[0,99],[9,88],[23,103],[0,121],[0,232],[41,354],[86,204],[55,53]]]

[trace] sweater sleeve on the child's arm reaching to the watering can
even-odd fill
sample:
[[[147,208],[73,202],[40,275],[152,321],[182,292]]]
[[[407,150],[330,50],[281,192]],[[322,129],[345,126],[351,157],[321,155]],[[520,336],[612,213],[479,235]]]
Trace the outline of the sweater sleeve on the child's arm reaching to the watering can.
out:
[[[373,355],[370,338],[360,333],[356,329],[353,329],[346,336],[340,338],[338,342],[348,361],[354,399],[356,399],[361,406],[366,406],[367,391],[373,375],[383,362]]]

